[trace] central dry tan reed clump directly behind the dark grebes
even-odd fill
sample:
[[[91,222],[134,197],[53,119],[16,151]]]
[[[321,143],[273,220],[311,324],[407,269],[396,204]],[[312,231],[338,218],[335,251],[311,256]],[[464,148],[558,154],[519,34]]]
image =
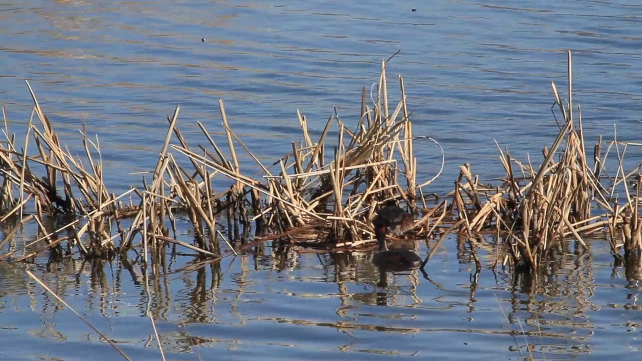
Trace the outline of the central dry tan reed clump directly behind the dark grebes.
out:
[[[221,125],[229,150],[227,157],[221,151],[225,146],[216,143],[202,123],[198,125],[211,148],[198,145],[196,151],[182,141],[171,145],[173,152],[189,159],[193,173],[200,178],[193,189],[202,197],[180,197],[187,209],[200,215],[200,218],[193,217],[196,229],[200,219],[214,224],[216,215],[224,208],[228,229],[234,231],[230,232],[233,239],[239,238],[237,220],[240,219],[239,223],[245,227],[254,222],[255,234],[282,234],[291,243],[300,245],[354,249],[372,240],[370,220],[377,204],[403,200],[413,213],[418,213],[418,197],[425,205],[422,188],[434,179],[417,183],[415,138],[401,77],[399,87],[401,100],[394,108],[389,107],[385,62],[382,62],[376,96],[371,94],[372,109],[367,104],[364,88],[361,116],[354,130],[343,123],[334,109],[318,139],[311,137],[308,119],[297,111],[301,140],[291,143],[290,154],[268,165],[261,163],[232,130],[220,100]],[[338,136],[329,139],[333,125],[338,128]],[[260,177],[243,173],[238,161],[239,147],[257,164]],[[169,167],[169,176],[178,179],[178,169],[176,165]],[[214,194],[207,189],[213,175],[229,178],[232,185]],[[218,211],[211,212],[215,208],[213,202]],[[419,228],[415,233],[428,231]]]

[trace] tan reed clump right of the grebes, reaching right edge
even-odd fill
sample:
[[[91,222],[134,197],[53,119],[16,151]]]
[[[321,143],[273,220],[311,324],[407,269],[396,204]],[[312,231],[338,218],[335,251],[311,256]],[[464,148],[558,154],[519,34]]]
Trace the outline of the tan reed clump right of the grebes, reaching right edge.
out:
[[[525,270],[537,270],[562,242],[574,240],[587,249],[584,239],[607,228],[616,258],[620,257],[617,239],[624,240],[627,251],[635,249],[639,258],[642,249],[639,192],[630,195],[625,186],[627,203],[623,207],[614,204],[612,198],[615,188],[622,183],[626,185],[636,170],[625,174],[623,153],[618,152],[618,174],[611,184],[603,184],[600,175],[605,173],[606,155],[603,158],[600,155],[601,136],[594,145],[593,164],[589,164],[581,107],[577,107],[577,118],[573,114],[570,51],[568,103],[562,103],[554,82],[551,87],[562,123],[558,123],[559,134],[553,144],[542,150],[544,161],[534,168],[530,159],[527,163],[517,161],[508,148],[502,150],[498,146],[506,176],[502,186],[496,188],[480,185],[478,177],[471,174],[470,164],[464,164],[451,193],[451,215],[459,219],[458,231],[471,237],[479,233],[496,234],[499,240],[496,264],[509,263]],[[612,145],[617,147],[618,143],[612,142],[609,149]],[[603,213],[595,215],[594,210]]]

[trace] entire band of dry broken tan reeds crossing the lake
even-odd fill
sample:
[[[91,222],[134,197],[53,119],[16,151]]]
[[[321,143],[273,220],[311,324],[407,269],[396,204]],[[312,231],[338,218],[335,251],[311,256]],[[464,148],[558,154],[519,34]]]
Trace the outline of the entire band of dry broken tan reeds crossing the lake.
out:
[[[589,164],[580,107],[573,113],[570,52],[568,84],[568,103],[564,104],[551,82],[562,123],[558,124],[560,131],[550,149],[544,148],[544,161],[539,168],[534,168],[530,159],[528,163],[513,159],[508,148],[502,150],[498,145],[499,159],[506,172],[501,186],[484,186],[479,176],[473,176],[471,165],[464,164],[460,166],[455,189],[430,208],[424,188],[441,174],[445,155],[434,139],[413,135],[401,76],[401,100],[390,106],[386,62],[381,63],[379,82],[373,85],[376,91],[370,92],[371,105],[363,88],[361,115],[353,130],[340,119],[335,108],[318,139],[313,139],[308,119],[297,110],[301,141],[293,141],[290,154],[272,164],[261,163],[232,130],[223,100],[219,100],[221,128],[225,132],[223,143],[217,143],[207,128],[197,122],[207,143],[189,146],[178,128],[180,107],[176,107],[168,117],[165,141],[149,184],[143,179],[140,188],[121,195],[110,193],[103,182],[98,138],[89,139],[83,127],[84,157],[72,155],[67,147],[61,146],[28,84],[35,104],[32,118],[37,116],[39,125],[30,119],[24,150],[17,149],[15,135],[10,135],[3,107],[6,144],[0,146],[3,177],[0,216],[3,222],[12,219],[14,225],[0,242],[0,248],[15,236],[19,227],[35,220],[42,236],[27,246],[39,248],[23,254],[19,260],[46,249],[60,258],[76,249],[85,258],[102,259],[135,251],[143,255],[144,261],[158,263],[164,247],[171,245],[215,261],[268,240],[330,251],[354,251],[374,245],[371,221],[377,206],[395,200],[403,201],[415,216],[422,213],[411,236],[438,236],[424,265],[448,234],[457,233],[467,239],[465,244],[478,269],[481,266],[476,250],[495,247],[496,265],[537,270],[560,243],[574,240],[586,248],[586,236],[605,229],[616,258],[621,258],[619,249],[623,247],[625,256],[636,254],[639,260],[642,251],[638,206],[642,176],[636,175],[639,166],[625,173],[625,152],[620,153],[621,143],[616,139],[602,157],[601,137],[594,146],[593,164]],[[338,128],[336,139],[329,137],[333,127]],[[430,139],[442,152],[440,171],[422,183],[417,182],[414,156],[418,139]],[[30,140],[39,155],[28,155]],[[609,177],[609,188],[600,180],[607,176],[605,161],[613,147],[618,154],[618,171]],[[227,152],[223,152],[225,149]],[[261,170],[258,177],[241,169],[239,152],[245,152],[257,164]],[[179,157],[187,163],[179,163]],[[33,173],[36,169],[43,169],[44,176],[37,177]],[[215,191],[214,177],[229,179],[230,187]],[[636,191],[630,194],[627,185],[634,177]],[[618,185],[626,189],[623,205],[612,198]],[[125,196],[139,197],[139,201],[124,204],[121,199]],[[596,206],[604,213],[594,215]],[[189,219],[194,242],[178,240],[178,213]],[[51,217],[66,220],[66,225],[54,229],[48,221]],[[227,228],[227,237],[221,233],[218,222]],[[247,243],[252,226],[255,239]],[[66,236],[61,237],[61,233]],[[490,244],[480,234],[496,234],[496,244]],[[139,237],[141,242],[137,244],[135,240]],[[40,242],[45,243],[44,247]],[[221,244],[227,245],[229,251],[221,251]],[[138,248],[143,252],[136,251]],[[0,254],[0,259],[18,259],[16,252]]]

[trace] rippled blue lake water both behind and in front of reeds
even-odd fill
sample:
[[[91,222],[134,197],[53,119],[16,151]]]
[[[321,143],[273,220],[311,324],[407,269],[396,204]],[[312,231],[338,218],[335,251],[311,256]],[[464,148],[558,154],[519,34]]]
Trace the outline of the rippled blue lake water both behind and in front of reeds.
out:
[[[485,179],[501,175],[494,139],[517,159],[541,159],[558,131],[550,82],[566,94],[567,49],[587,144],[611,139],[614,126],[639,142],[641,20],[633,1],[10,0],[0,3],[0,101],[19,139],[32,107],[24,80],[64,143],[78,146],[86,123],[120,192],[140,184],[130,173],[153,169],[176,105],[190,143],[205,142],[196,121],[222,141],[222,98],[239,136],[272,161],[300,139],[297,109],[317,136],[334,105],[354,125],[361,88],[401,49],[388,84],[398,100],[404,76],[415,135],[444,147],[433,187],[443,192],[465,162]],[[415,155],[422,179],[438,171],[435,146],[417,143]],[[137,265],[3,261],[0,358],[118,357],[26,270],[134,360],[160,359],[148,305],[171,360],[519,360],[529,349],[546,360],[640,358],[641,287],[614,268],[605,240],[571,247],[535,286],[499,269],[471,278],[474,263],[455,244],[431,260],[429,279],[382,279],[363,254],[266,247],[200,270],[177,257],[150,279],[151,297]]]

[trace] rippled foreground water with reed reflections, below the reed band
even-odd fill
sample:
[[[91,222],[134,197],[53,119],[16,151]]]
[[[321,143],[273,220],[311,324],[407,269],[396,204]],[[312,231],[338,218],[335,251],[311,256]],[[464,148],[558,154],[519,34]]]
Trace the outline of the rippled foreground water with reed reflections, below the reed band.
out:
[[[190,272],[177,270],[184,260],[168,254],[148,269],[151,298],[143,265],[132,260],[0,263],[0,317],[10,325],[5,337],[28,342],[32,356],[49,354],[53,337],[113,357],[108,346],[99,347],[97,335],[26,277],[24,270],[31,269],[126,353],[142,358],[158,358],[143,317],[149,305],[173,359],[195,360],[193,353],[204,359],[478,360],[480,353],[488,359],[519,359],[520,353],[546,360],[632,359],[640,351],[640,288],[622,265],[605,262],[609,248],[598,241],[591,252],[560,250],[537,283],[499,268],[475,279],[465,251],[456,259],[448,250],[438,252],[425,276],[419,270],[380,272],[372,252],[299,254],[270,245]],[[485,265],[492,256],[482,254]],[[55,350],[52,357],[74,358],[69,346]],[[7,352],[17,351],[10,346]]]

